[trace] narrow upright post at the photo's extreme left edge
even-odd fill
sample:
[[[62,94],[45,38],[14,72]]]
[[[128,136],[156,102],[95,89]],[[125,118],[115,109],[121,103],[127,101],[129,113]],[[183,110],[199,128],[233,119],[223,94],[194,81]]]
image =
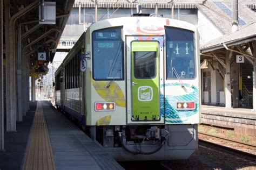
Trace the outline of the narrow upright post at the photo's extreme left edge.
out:
[[[0,152],[4,151],[3,1],[0,1]]]

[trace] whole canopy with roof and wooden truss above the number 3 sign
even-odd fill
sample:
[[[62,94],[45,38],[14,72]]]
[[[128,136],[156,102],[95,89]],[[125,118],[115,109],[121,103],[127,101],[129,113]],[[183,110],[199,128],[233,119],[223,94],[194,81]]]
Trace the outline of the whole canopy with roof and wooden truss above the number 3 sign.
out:
[[[256,59],[256,21],[242,27],[236,32],[225,34],[219,38],[200,47],[201,59],[212,58],[218,60],[221,65],[226,67],[226,59],[230,58],[231,52],[244,55],[245,58],[254,65]]]

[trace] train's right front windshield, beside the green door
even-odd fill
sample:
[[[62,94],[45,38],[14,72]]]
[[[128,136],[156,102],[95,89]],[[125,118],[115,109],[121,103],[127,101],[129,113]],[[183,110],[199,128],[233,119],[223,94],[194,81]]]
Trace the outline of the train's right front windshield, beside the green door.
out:
[[[165,27],[167,79],[194,79],[194,32]]]

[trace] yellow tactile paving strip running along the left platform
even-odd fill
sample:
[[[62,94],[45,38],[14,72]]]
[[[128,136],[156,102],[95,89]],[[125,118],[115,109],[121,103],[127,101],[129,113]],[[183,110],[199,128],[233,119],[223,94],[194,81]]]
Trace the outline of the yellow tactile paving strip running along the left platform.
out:
[[[23,169],[56,169],[41,101],[37,103]]]

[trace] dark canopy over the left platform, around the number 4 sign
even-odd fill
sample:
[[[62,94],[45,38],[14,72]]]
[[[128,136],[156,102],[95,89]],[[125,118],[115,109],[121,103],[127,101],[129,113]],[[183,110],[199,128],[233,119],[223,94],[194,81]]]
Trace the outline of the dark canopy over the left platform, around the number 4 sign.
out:
[[[6,37],[4,53],[6,52],[6,56],[10,56],[10,58],[14,56],[16,59],[19,58],[18,55],[21,55],[22,60],[25,59],[30,63],[29,68],[32,74],[47,73],[46,66],[53,60],[75,0],[5,0],[3,3],[5,19],[3,37]],[[53,4],[53,11],[45,10],[42,13],[42,3],[44,8]],[[10,16],[10,20],[6,20],[7,15]],[[43,19],[52,17],[56,18],[56,21],[51,24],[44,23],[42,19],[39,19],[41,15],[45,16]],[[5,30],[6,25],[9,25],[9,30]],[[21,48],[18,48],[20,46]],[[38,53],[44,53],[45,59],[38,61]]]

